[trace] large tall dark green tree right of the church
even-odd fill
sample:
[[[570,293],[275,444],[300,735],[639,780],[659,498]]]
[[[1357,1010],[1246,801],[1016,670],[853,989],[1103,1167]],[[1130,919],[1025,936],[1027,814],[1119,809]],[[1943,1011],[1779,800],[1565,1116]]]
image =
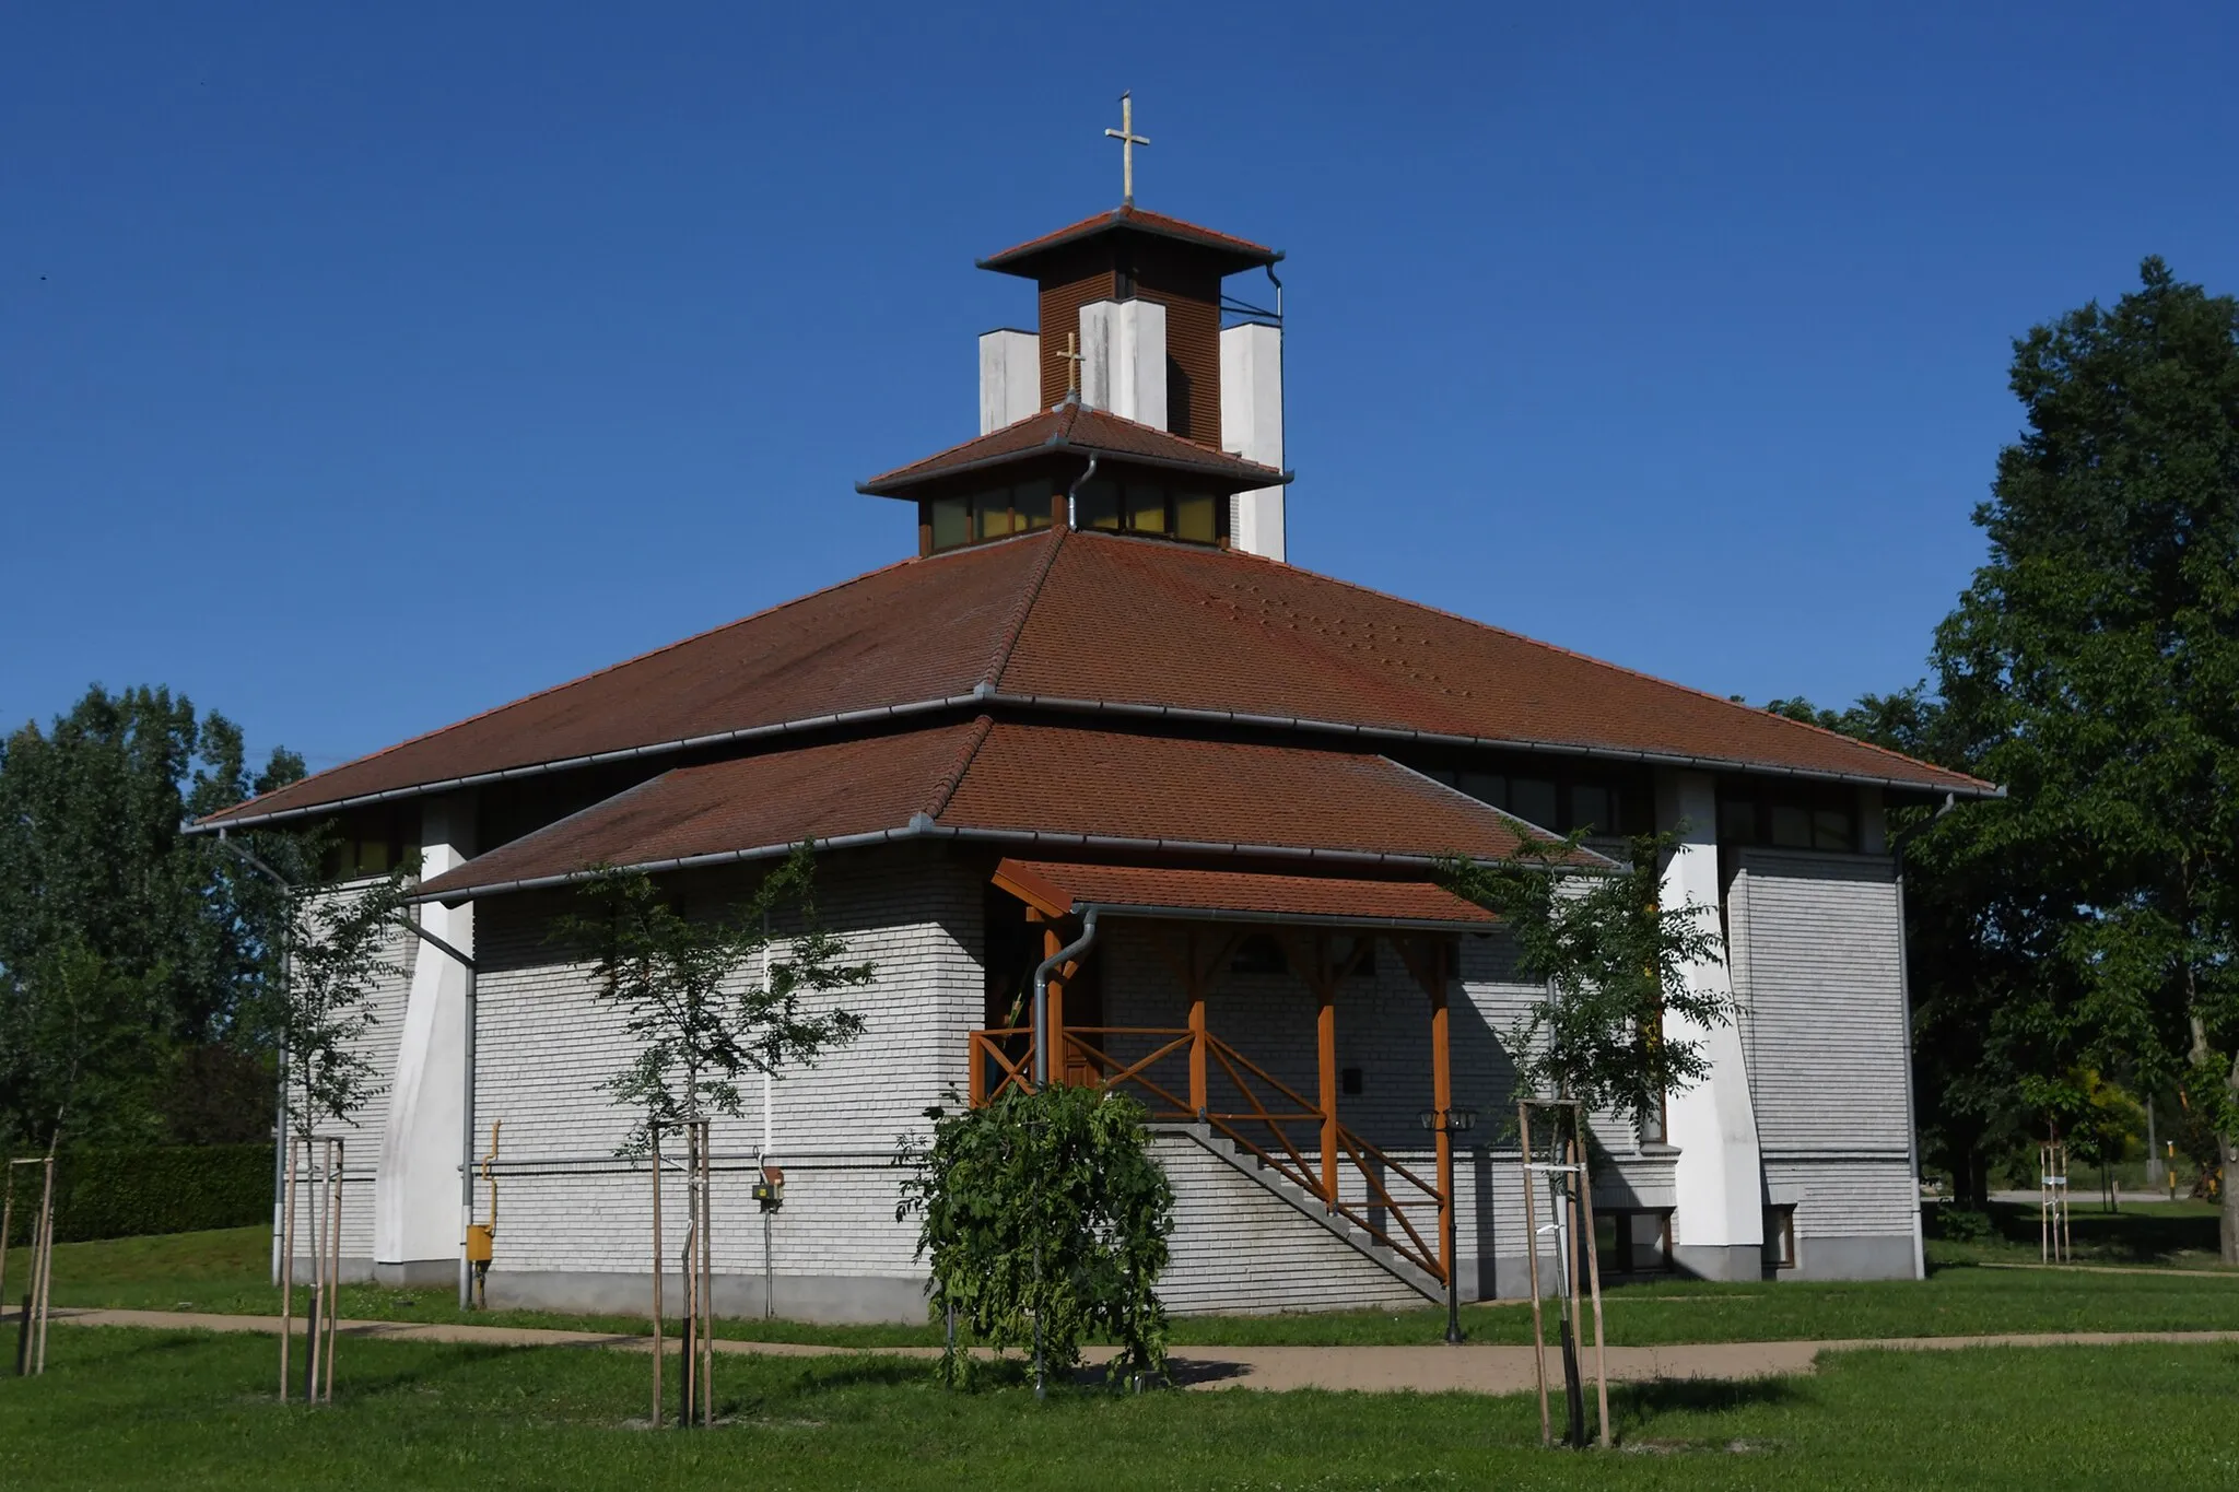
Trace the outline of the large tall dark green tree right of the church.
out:
[[[2073,1065],[2174,1083],[2239,1172],[2239,302],[2161,259],[2015,344],[2029,429],[1937,682],[2008,801],[1977,854],[2055,888]],[[2223,1257],[2239,1264],[2239,1188]]]

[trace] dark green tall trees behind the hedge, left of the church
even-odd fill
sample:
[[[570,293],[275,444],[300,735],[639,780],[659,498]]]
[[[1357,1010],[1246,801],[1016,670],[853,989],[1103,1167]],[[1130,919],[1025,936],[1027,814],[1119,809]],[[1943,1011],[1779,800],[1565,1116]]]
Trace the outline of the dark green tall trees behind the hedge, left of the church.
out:
[[[271,973],[280,904],[237,886],[222,850],[179,825],[298,776],[289,752],[251,774],[240,729],[197,720],[166,689],[94,687],[49,729],[0,740],[0,1139],[54,1123],[40,1074],[67,1060],[36,1045],[54,1027],[20,1007],[51,1011],[54,980],[85,975],[85,957],[146,1000],[146,1042],[78,1063],[103,1094],[76,1107],[81,1139],[177,1132],[166,1098],[181,1089],[163,1069],[197,1047],[251,1045],[240,1016]]]

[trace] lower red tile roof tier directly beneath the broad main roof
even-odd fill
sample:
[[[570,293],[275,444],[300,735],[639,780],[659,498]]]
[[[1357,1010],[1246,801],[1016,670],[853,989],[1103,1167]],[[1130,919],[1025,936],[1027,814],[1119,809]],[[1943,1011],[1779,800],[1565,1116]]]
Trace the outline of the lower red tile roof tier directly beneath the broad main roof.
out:
[[[1514,857],[1529,825],[1381,756],[967,725],[683,767],[499,846],[425,897],[555,884],[589,866],[676,870],[802,839],[985,839],[1422,866]],[[1581,863],[1601,863],[1581,854]]]

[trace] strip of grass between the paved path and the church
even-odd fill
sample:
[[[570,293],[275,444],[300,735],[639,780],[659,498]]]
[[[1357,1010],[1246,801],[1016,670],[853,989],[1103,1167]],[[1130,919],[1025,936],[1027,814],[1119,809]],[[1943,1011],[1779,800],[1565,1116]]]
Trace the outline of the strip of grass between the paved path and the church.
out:
[[[2179,1203],[2181,1208],[2185,1203]],[[2082,1235],[2087,1217],[2078,1212]],[[2109,1219],[2111,1224],[2114,1219]],[[2156,1228],[2152,1215],[2125,1208],[2123,1226]],[[2194,1226],[2194,1219],[2176,1221]],[[2205,1224],[2214,1228],[2214,1217]],[[54,1302],[67,1306],[139,1306],[154,1311],[278,1311],[266,1284],[264,1228],[179,1233],[170,1237],[60,1244]],[[1608,1291],[1612,1342],[1771,1342],[1814,1338],[1984,1335],[2002,1331],[2239,1331],[2239,1271],[2181,1273],[2060,1273],[1986,1268],[2035,1248],[2015,1244],[1930,1244],[1926,1282],[1802,1282],[1702,1284],[1661,1279]],[[2132,1250],[2136,1255],[2136,1250]],[[16,1293],[25,1279],[25,1250],[9,1257]],[[300,1309],[300,1306],[298,1306]],[[345,1288],[343,1311],[356,1320],[461,1320],[455,1295],[443,1291]],[[1531,1313],[1520,1304],[1464,1306],[1464,1326],[1478,1342],[1529,1342]],[[580,1318],[537,1311],[488,1311],[468,1320],[510,1326],[578,1326],[643,1331],[643,1318]],[[1437,1342],[1444,1311],[1337,1311],[1317,1315],[1178,1318],[1175,1344],[1370,1344]],[[723,1335],[755,1340],[835,1342],[851,1347],[931,1347],[934,1326],[813,1326],[802,1322],[737,1320]]]

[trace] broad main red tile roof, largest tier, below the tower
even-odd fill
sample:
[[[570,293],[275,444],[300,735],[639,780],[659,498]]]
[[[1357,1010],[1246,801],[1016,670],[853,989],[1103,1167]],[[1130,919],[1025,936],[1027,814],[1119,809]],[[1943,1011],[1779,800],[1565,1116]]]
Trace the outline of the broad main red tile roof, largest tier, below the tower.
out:
[[[1115,617],[1126,620],[1124,640]],[[1041,532],[911,559],[204,823],[981,707],[1249,718],[1979,796],[1988,783],[1292,566]]]

